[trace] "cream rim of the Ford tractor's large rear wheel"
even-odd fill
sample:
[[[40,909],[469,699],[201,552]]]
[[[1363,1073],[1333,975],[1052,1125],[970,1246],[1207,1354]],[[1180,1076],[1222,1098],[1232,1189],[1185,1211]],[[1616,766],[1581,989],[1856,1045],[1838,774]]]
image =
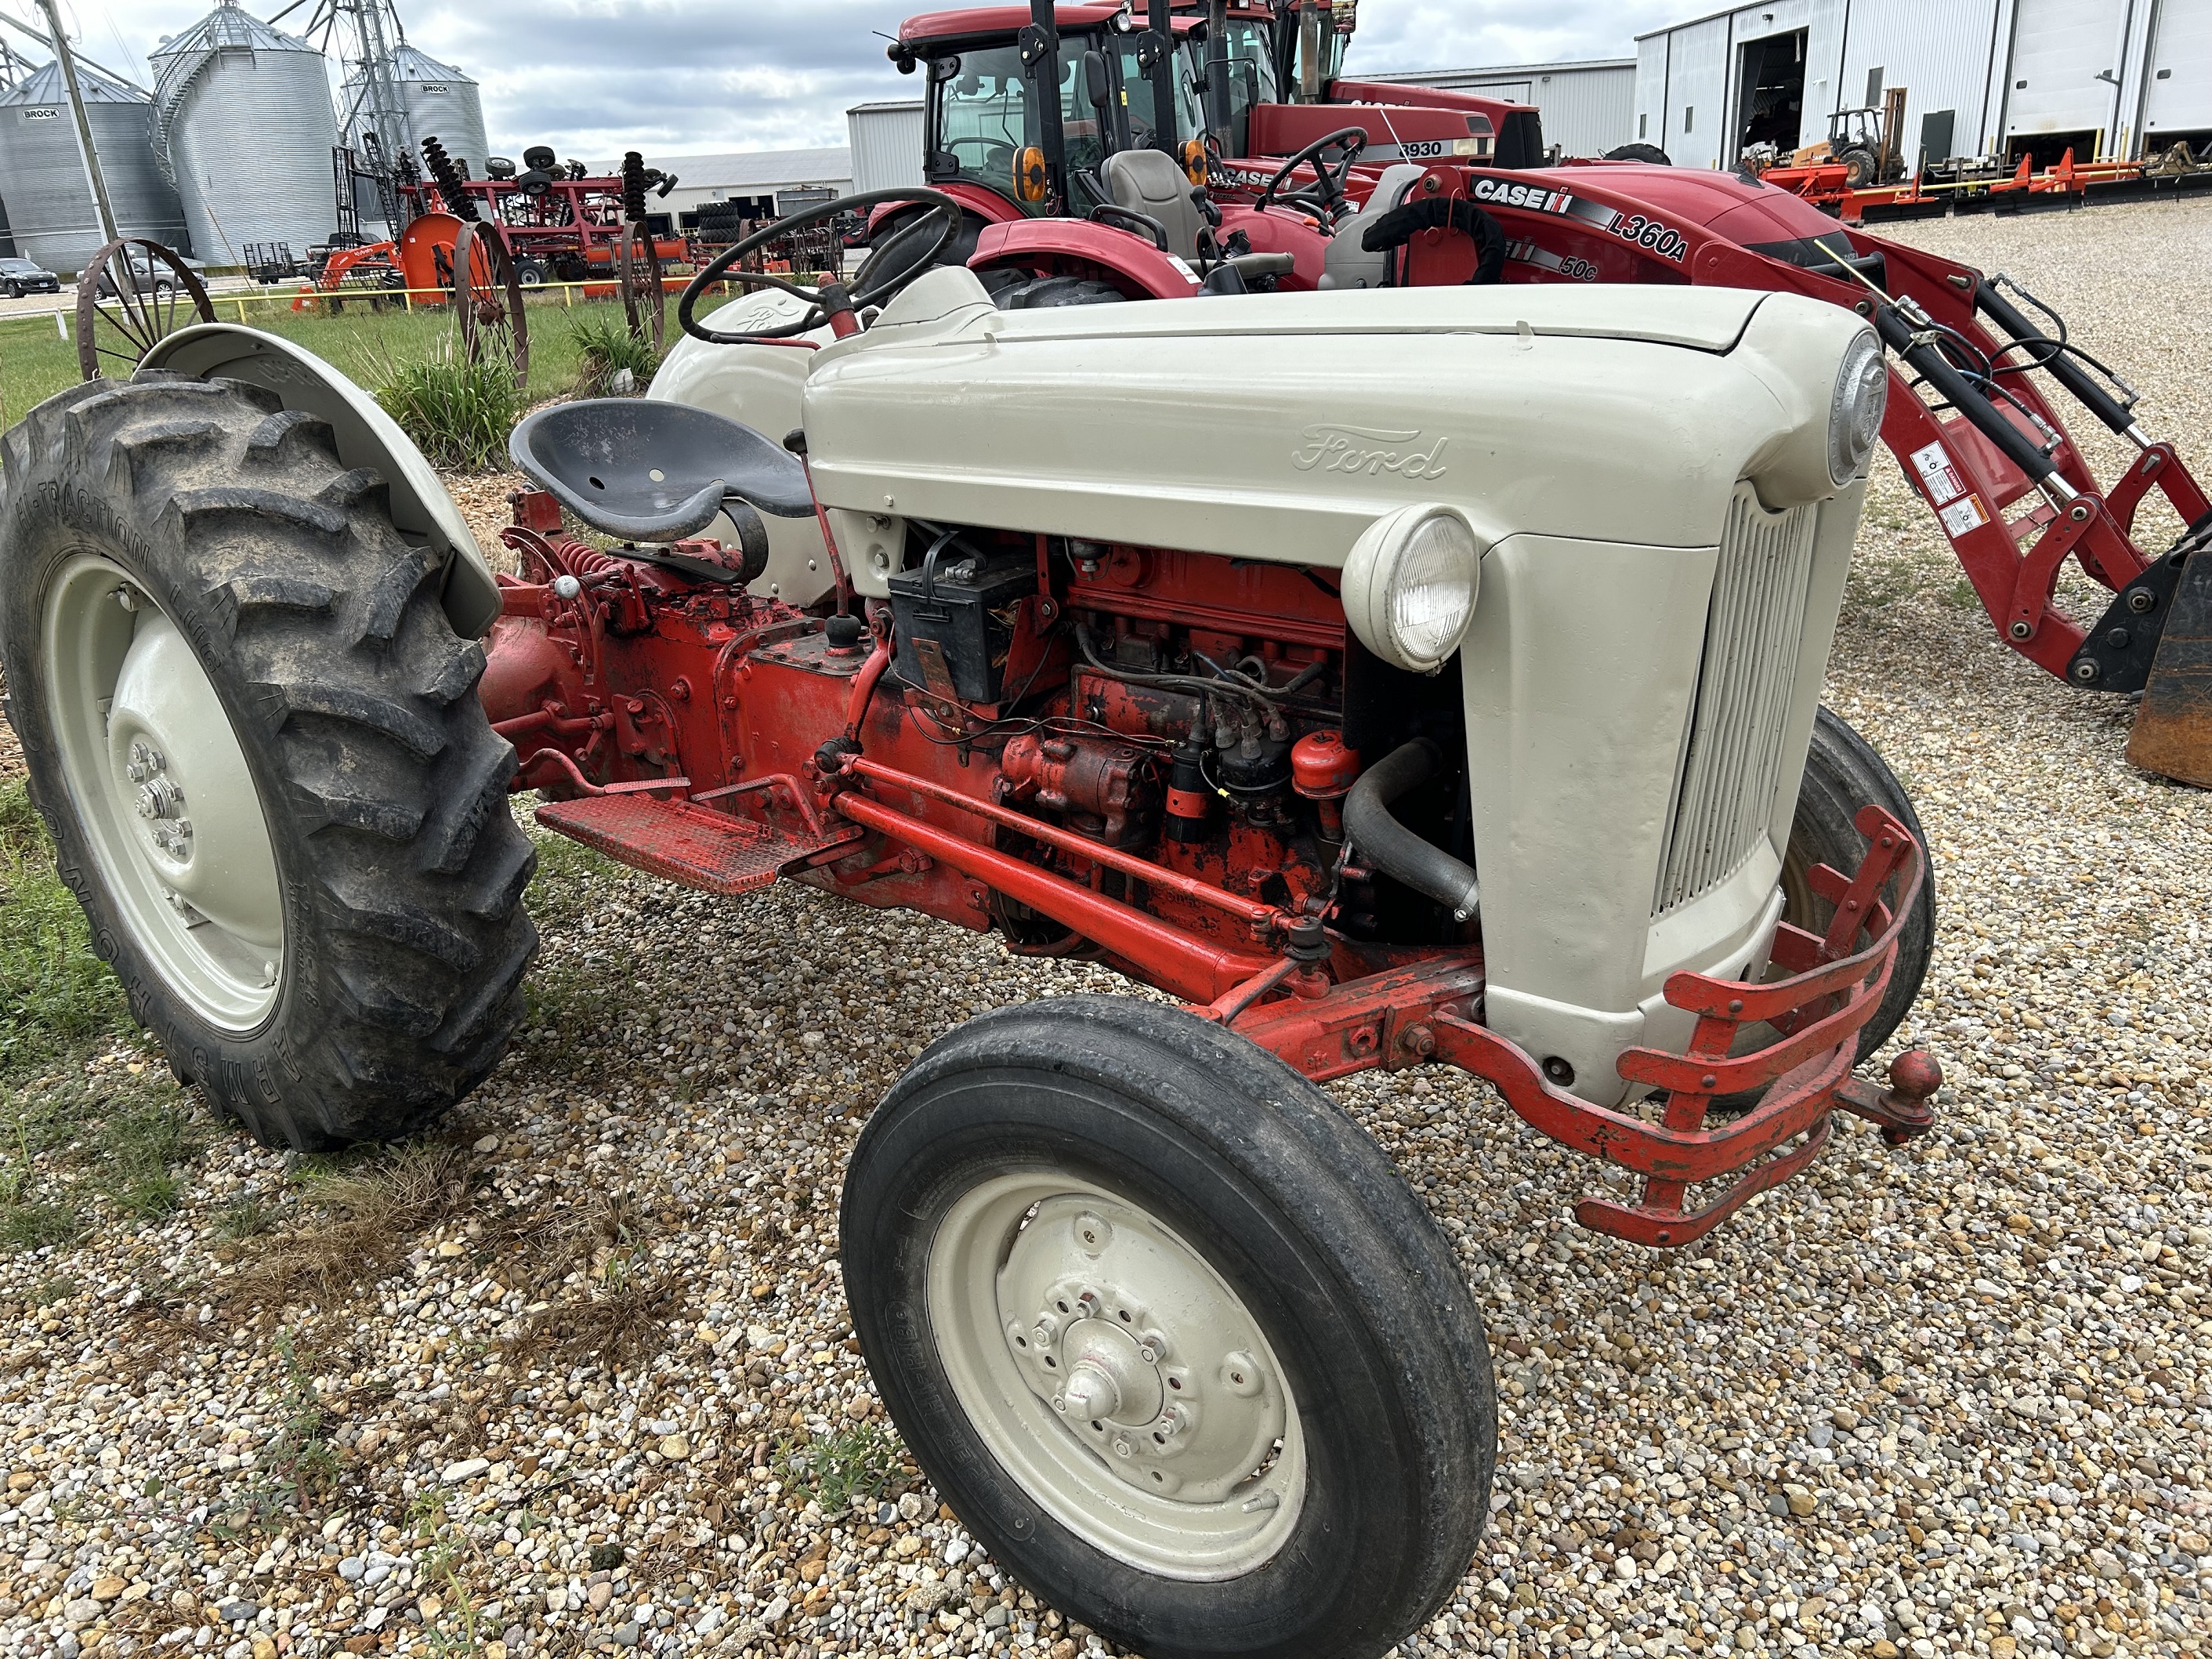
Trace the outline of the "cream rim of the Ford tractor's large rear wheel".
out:
[[[283,980],[283,885],[246,750],[177,624],[80,553],[42,617],[46,703],[100,887],[148,967],[226,1033]]]

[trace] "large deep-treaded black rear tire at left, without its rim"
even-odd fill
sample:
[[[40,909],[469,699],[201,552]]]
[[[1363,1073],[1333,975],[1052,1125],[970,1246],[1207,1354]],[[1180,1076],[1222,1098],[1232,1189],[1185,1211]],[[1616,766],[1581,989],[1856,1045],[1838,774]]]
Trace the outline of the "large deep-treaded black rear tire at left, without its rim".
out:
[[[55,394],[0,440],[7,717],[62,880],[179,1077],[268,1146],[405,1135],[498,1064],[538,947],[507,810],[513,745],[476,699],[484,648],[387,487],[272,392],[142,369]],[[93,551],[192,641],[246,750],[283,880],[285,962],[252,1035],[201,1020],[97,880],[40,661],[44,591]]]

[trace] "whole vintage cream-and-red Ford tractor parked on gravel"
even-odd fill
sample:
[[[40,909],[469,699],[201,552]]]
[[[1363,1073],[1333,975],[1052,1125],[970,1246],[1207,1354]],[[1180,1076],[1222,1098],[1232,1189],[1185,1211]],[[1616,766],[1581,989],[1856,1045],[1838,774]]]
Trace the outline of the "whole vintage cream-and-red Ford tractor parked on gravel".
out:
[[[1838,1113],[1931,1124],[1927,1055],[1854,1077],[1924,960],[1918,827],[1818,703],[1880,343],[1723,288],[1009,312],[887,270],[796,296],[825,343],[739,336],[799,367],[790,434],[518,427],[520,580],[285,341],[186,330],[40,405],[0,445],[35,799],[137,1018],[270,1144],[493,1066],[535,940],[511,790],[670,880],[1166,991],[907,1071],[847,1177],[854,1323],[1068,1615],[1378,1655],[1467,1571],[1495,1400],[1444,1232],[1323,1082],[1469,1071],[1652,1245]],[[768,591],[776,522],[818,586]]]

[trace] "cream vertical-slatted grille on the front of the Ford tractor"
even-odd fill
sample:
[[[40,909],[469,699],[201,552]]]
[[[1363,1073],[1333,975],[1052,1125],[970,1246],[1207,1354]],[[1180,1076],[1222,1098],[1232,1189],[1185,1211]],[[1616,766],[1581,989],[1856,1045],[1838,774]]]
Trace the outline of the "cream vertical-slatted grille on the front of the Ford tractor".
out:
[[[1814,520],[1812,507],[1767,513],[1750,487],[1739,487],[1728,507],[1652,916],[1734,874],[1774,816],[1805,637]]]

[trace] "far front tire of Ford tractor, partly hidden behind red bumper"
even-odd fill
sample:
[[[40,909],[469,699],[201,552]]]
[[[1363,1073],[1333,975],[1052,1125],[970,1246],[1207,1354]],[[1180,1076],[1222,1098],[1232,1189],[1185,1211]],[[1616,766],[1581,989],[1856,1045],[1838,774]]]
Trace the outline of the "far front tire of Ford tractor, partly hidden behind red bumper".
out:
[[[1927,852],[1929,838],[1913,812],[1911,796],[1898,783],[1898,774],[1874,752],[1849,721],[1823,706],[1812,726],[1812,750],[1805,754],[1805,783],[1798,790],[1796,816],[1790,823],[1790,847],[1783,854],[1783,894],[1787,907],[1783,918],[1814,933],[1825,933],[1836,907],[1825,898],[1814,898],[1805,887],[1803,872],[1812,865],[1829,865],[1849,876],[1858,860],[1867,856],[1867,838],[1858,834],[1851,816],[1863,805],[1878,805],[1898,823],[1913,832],[1913,841]],[[1891,900],[1896,894],[1891,891]],[[1927,980],[1929,956],[1936,949],[1936,874],[1920,883],[1920,898],[1905,918],[1905,936],[1898,940],[1898,967],[1882,995],[1882,1009],[1858,1033],[1858,1057],[1867,1060],[1880,1048],[1889,1033],[1898,1029],[1905,1013],[1920,995]]]

